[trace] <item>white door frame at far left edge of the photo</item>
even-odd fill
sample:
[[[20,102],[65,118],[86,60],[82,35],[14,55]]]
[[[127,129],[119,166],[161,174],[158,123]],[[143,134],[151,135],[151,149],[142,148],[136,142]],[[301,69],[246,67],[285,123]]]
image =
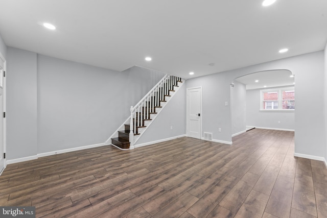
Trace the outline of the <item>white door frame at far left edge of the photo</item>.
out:
[[[3,109],[4,112],[6,112],[6,117],[7,117],[7,61],[5,57],[0,53],[0,59],[4,61],[4,71],[6,72],[6,76],[3,77],[3,88],[4,88],[4,98],[3,98]],[[2,75],[3,76],[3,75]],[[7,119],[4,118],[3,114],[0,114],[1,118],[3,119],[3,153],[6,153],[7,156]],[[4,154],[0,154],[4,155]],[[3,173],[4,169],[7,166],[7,157],[4,158],[4,168],[0,169],[0,176]]]

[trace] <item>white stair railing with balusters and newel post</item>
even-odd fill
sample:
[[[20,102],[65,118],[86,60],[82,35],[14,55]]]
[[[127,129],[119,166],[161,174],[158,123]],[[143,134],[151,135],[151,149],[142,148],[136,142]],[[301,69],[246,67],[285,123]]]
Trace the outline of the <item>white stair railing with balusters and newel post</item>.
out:
[[[130,107],[130,147],[134,147],[134,133],[138,133],[139,127],[144,127],[145,121],[150,119],[150,114],[155,113],[155,108],[160,107],[160,102],[165,101],[169,91],[174,90],[177,81],[181,78],[166,74],[134,107]]]

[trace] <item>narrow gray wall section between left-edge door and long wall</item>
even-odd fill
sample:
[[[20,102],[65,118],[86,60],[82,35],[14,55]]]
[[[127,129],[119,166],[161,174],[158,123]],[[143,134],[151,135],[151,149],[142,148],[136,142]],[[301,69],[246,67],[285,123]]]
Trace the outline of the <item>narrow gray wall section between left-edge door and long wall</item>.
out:
[[[37,154],[36,53],[8,47],[7,160]]]

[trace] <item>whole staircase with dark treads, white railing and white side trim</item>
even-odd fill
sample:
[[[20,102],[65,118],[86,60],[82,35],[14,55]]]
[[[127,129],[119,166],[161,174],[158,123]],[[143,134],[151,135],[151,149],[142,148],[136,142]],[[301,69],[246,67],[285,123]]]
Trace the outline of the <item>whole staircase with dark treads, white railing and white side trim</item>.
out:
[[[167,105],[182,84],[179,77],[166,75],[134,107],[131,116],[111,137],[111,144],[122,150],[134,149],[134,144]],[[118,134],[117,134],[118,133]]]

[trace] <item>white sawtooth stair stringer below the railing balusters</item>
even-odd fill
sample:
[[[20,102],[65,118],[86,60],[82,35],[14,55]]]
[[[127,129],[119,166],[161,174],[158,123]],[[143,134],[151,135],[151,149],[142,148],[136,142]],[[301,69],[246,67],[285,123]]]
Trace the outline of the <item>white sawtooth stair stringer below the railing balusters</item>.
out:
[[[166,105],[170,102],[170,100],[174,97],[174,95],[177,93],[177,91],[182,87],[182,85],[185,83],[184,79],[181,79],[182,82],[178,82],[178,86],[174,87],[174,91],[170,91],[170,96],[166,96],[165,100],[166,102],[161,102],[160,106],[161,108],[155,108],[155,112],[156,114],[151,114],[150,118],[151,120],[146,120],[145,121],[145,128],[142,128],[141,131],[139,131],[139,135],[134,135],[134,144],[131,146],[130,149],[134,149],[135,148],[135,143],[137,142],[137,140],[139,138],[141,138],[141,136],[143,135],[143,133],[145,133],[147,131],[147,129],[150,127],[150,125],[153,123],[153,121],[155,120],[155,118],[157,116],[159,116],[160,112],[162,110],[164,110],[164,108],[166,107]],[[123,125],[124,126],[124,125]]]

